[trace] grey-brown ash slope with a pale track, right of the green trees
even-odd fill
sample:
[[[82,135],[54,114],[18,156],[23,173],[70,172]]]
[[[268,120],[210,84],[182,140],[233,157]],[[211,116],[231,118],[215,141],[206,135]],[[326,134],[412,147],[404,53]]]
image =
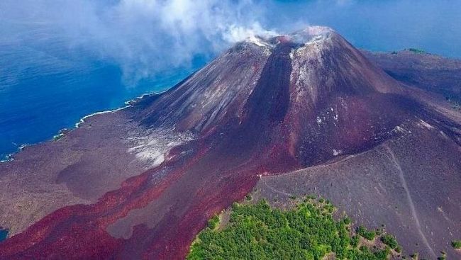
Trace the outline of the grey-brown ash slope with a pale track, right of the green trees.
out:
[[[401,136],[367,152],[289,174],[264,176],[260,196],[286,201],[318,194],[338,205],[357,225],[386,226],[404,254],[435,259],[461,234],[461,150],[425,125],[403,125]],[[411,132],[410,132],[411,131]]]

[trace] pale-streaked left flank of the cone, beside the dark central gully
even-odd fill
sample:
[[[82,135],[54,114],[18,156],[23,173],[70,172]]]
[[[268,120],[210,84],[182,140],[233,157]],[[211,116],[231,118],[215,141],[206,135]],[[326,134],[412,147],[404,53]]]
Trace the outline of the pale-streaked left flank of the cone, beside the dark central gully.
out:
[[[255,89],[270,53],[269,47],[253,43],[235,45],[148,103],[138,119],[148,126],[160,123],[179,130],[206,132],[229,118],[241,118],[245,101]]]

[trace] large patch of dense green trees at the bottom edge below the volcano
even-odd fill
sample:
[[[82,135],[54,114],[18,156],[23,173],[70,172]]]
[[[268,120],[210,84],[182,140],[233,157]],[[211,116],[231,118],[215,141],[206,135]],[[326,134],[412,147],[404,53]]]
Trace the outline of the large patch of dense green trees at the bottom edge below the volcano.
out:
[[[191,245],[187,259],[389,258],[389,247],[361,244],[350,231],[351,220],[335,220],[333,209],[328,201],[318,203],[310,197],[291,210],[272,208],[265,200],[254,205],[234,203],[228,225],[223,230],[214,228],[219,218],[213,217],[213,224]]]

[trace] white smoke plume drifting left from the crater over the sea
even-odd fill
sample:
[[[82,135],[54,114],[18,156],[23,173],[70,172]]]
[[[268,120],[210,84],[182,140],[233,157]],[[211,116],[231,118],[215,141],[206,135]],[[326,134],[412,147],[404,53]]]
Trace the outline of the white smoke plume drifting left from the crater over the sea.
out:
[[[2,0],[0,11],[4,25],[21,24],[18,37],[48,28],[70,48],[113,60],[130,81],[273,33],[259,21],[264,7],[251,0]]]

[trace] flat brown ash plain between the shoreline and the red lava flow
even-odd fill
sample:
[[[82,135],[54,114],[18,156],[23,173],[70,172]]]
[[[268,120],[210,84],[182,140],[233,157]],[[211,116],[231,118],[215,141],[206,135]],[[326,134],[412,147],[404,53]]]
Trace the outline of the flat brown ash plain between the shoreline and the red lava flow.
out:
[[[121,113],[89,118],[55,142],[26,147],[0,164],[0,226],[18,234],[65,205],[94,203],[145,165],[126,151],[130,125]]]

